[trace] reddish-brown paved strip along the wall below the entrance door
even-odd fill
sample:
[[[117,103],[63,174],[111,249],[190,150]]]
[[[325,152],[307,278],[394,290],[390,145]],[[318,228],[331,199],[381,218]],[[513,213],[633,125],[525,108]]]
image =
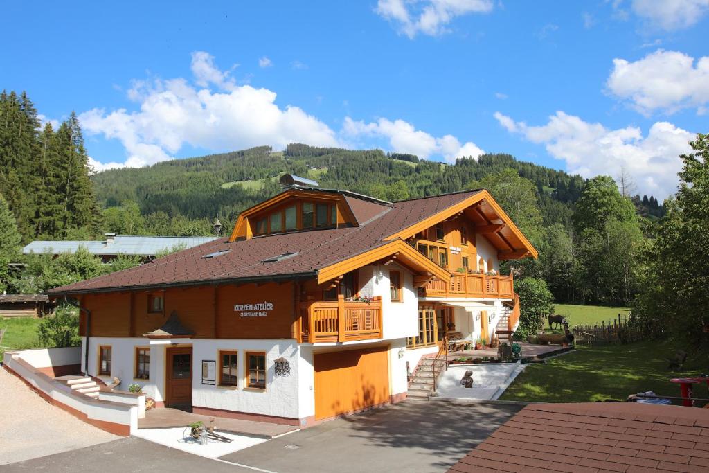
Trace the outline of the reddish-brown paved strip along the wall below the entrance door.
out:
[[[212,425],[222,432],[230,432],[240,435],[253,435],[256,437],[275,438],[284,433],[294,432],[300,428],[297,425],[283,425],[257,421],[242,421],[216,416],[201,416],[179,409],[155,408],[145,411],[145,418],[138,419],[138,428],[170,428],[186,427],[188,424],[202,421],[206,427]]]

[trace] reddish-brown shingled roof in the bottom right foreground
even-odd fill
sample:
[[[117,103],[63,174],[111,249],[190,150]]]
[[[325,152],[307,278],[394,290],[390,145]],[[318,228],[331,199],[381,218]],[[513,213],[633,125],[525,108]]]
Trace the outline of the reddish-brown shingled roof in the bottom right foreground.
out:
[[[530,404],[449,472],[707,472],[709,409]]]

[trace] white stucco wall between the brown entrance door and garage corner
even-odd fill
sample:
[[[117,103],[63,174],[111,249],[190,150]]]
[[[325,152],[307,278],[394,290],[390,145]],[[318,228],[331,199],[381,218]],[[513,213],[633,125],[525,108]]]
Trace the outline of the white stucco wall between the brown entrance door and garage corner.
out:
[[[202,360],[216,360],[218,380],[218,351],[238,351],[238,386],[221,387],[202,384]],[[266,389],[253,390],[246,387],[246,352],[266,353]],[[193,340],[194,378],[192,379],[192,405],[249,412],[267,416],[300,418],[298,358],[299,348],[295,340]],[[291,374],[276,377],[274,361],[285,358],[290,362]]]

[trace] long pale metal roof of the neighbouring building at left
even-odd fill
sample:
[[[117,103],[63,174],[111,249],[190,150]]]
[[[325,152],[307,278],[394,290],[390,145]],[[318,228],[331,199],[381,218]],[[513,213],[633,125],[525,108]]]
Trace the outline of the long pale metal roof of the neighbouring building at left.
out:
[[[90,253],[98,255],[104,262],[118,255],[140,256],[152,260],[156,255],[176,248],[189,249],[216,240],[214,237],[144,237],[116,235],[106,233],[104,241],[33,241],[22,249],[23,255],[60,255],[74,253],[84,247]]]

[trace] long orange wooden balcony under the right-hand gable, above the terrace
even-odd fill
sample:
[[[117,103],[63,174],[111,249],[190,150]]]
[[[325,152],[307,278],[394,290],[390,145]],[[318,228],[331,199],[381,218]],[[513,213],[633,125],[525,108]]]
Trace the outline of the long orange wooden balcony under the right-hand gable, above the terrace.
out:
[[[420,295],[441,298],[512,299],[514,279],[510,276],[452,273],[450,282],[427,282]]]

